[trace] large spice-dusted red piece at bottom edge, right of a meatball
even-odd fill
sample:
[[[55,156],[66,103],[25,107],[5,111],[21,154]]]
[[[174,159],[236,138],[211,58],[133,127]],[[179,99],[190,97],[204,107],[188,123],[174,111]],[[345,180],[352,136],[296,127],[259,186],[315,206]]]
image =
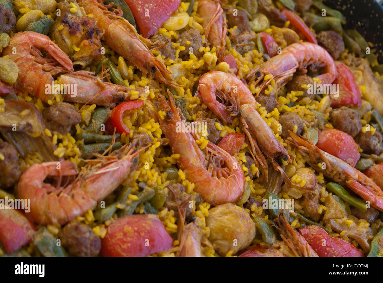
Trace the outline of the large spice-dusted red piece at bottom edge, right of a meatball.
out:
[[[145,257],[173,247],[173,239],[156,214],[134,214],[116,219],[101,239],[104,257]]]

